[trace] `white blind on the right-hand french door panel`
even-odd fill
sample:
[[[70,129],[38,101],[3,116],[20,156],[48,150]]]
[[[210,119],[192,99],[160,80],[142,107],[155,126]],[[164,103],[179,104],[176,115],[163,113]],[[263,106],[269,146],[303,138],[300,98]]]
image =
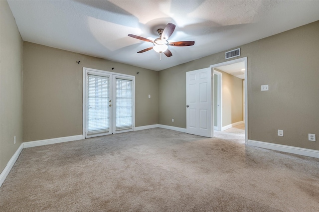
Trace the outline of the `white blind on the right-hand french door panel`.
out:
[[[116,131],[133,128],[133,82],[116,78]]]

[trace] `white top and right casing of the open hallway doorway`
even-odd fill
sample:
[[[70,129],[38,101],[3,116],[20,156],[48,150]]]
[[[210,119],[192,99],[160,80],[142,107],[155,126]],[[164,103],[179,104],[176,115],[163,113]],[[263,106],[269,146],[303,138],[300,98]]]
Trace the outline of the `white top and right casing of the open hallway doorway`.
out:
[[[235,60],[226,61],[223,63],[218,63],[214,65],[210,65],[209,67],[214,70],[219,66],[226,66],[233,63],[245,62],[245,144],[248,145],[248,64],[247,64],[247,57],[238,58]]]

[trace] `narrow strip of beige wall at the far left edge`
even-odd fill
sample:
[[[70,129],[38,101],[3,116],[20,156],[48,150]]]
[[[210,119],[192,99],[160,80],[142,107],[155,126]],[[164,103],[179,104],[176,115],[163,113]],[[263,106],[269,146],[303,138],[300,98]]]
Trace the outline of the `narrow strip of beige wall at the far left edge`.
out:
[[[14,144],[13,137],[16,136]],[[0,1],[0,172],[22,143],[22,39]]]

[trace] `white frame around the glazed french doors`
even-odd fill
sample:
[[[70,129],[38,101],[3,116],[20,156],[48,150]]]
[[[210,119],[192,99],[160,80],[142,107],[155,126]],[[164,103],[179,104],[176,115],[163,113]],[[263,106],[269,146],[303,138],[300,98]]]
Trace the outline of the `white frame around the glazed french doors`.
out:
[[[132,124],[133,124],[133,131],[135,131],[135,76],[133,75],[127,75],[127,74],[121,74],[121,73],[116,73],[116,72],[109,72],[109,71],[103,71],[103,70],[98,70],[98,69],[92,69],[92,68],[86,68],[83,67],[83,83],[82,83],[82,135],[84,136],[84,138],[86,138],[86,132],[85,132],[85,128],[86,128],[86,75],[88,72],[92,72],[92,73],[96,73],[96,74],[101,74],[101,76],[103,75],[111,75],[110,80],[113,81],[113,75],[117,75],[117,76],[121,76],[123,77],[123,79],[133,79],[133,108],[132,108]],[[112,90],[112,88],[111,88]],[[112,91],[113,92],[113,91]],[[113,95],[113,93],[111,93],[111,95]],[[112,116],[113,116],[113,106],[112,106]],[[113,118],[113,117],[112,117]],[[111,124],[113,125],[113,123],[111,122]],[[110,128],[112,129],[112,126],[110,126]],[[125,130],[121,131],[121,132],[125,132]],[[119,133],[119,132],[116,132]],[[113,134],[113,129],[111,130],[111,133]]]

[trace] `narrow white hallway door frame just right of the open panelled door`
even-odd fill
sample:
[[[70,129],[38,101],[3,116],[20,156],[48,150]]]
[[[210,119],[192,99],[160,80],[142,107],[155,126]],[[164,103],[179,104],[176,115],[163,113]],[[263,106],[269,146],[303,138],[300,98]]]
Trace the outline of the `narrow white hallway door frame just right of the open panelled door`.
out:
[[[213,70],[213,77],[217,75],[217,130],[221,131],[223,126],[223,73],[216,71],[214,68]],[[214,81],[213,81],[214,84]],[[212,86],[214,89],[214,85]],[[213,91],[214,94],[214,91]],[[214,98],[213,98],[214,100]],[[214,108],[213,108],[214,109]]]

